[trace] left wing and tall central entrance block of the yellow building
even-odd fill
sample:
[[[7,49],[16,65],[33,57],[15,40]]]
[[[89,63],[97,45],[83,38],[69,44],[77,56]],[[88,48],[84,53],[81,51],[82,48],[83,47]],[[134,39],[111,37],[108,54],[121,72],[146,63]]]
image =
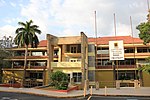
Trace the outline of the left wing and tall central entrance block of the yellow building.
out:
[[[25,48],[11,48],[13,57],[10,68],[3,68],[3,82],[21,83],[23,78]],[[56,37],[47,35],[37,48],[28,48],[26,68],[26,86],[46,85],[53,71],[61,70],[68,74],[75,83],[84,83],[88,79],[88,38],[80,36]]]

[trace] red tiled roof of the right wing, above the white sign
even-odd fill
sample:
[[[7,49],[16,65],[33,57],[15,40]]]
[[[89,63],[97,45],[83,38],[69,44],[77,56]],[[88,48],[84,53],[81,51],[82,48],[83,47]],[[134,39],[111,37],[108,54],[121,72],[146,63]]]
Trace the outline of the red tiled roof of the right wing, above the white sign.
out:
[[[138,44],[143,43],[140,38],[134,38],[131,36],[110,36],[110,37],[99,37],[97,38],[98,45],[109,44],[109,41],[123,40],[124,44]],[[96,42],[96,38],[88,38],[88,42]]]

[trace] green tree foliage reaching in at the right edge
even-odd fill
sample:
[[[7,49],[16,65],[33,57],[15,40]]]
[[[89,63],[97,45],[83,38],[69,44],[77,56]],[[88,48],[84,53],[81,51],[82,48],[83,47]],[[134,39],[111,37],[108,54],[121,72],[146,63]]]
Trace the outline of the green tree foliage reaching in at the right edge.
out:
[[[149,12],[149,14],[150,14],[150,12]],[[140,37],[140,39],[143,40],[143,44],[145,44],[145,45],[150,43],[150,17],[149,17],[149,14],[147,16],[148,21],[141,23],[140,25],[138,25],[136,27],[136,29],[138,29],[140,31],[139,37]],[[139,68],[139,70],[142,70],[142,71],[150,74],[150,57],[148,57],[146,59],[146,61],[148,61],[148,64],[143,65],[141,68]]]

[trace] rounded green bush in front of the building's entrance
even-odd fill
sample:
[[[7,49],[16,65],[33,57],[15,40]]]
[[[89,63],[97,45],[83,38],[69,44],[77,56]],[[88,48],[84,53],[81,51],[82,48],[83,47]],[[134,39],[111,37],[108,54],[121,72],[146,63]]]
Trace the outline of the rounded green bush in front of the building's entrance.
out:
[[[51,85],[56,89],[66,90],[68,88],[69,82],[67,74],[61,71],[56,71],[51,74],[50,79],[52,80]]]

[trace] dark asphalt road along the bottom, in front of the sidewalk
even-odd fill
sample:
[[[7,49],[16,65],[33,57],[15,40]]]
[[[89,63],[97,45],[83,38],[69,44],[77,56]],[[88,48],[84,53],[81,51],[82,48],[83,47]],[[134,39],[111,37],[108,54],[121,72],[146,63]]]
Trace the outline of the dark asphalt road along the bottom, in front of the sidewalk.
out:
[[[150,100],[150,97],[115,97],[115,96],[92,96],[89,100]],[[20,94],[11,92],[0,92],[0,100],[87,100],[88,97],[79,98],[50,98],[30,94]]]

